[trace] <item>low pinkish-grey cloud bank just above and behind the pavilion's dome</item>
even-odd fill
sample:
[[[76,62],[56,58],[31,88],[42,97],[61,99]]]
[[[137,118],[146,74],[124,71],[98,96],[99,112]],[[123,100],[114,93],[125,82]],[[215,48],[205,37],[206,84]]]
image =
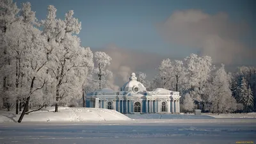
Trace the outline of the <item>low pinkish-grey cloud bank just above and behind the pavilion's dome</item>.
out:
[[[170,58],[170,56],[152,52],[118,47],[115,44],[107,45],[102,49],[92,49],[92,51],[104,51],[111,56],[112,61],[109,69],[113,72],[113,83],[115,82],[118,86],[122,86],[122,84],[129,81],[132,72],[144,72],[148,79],[152,79],[161,61]]]

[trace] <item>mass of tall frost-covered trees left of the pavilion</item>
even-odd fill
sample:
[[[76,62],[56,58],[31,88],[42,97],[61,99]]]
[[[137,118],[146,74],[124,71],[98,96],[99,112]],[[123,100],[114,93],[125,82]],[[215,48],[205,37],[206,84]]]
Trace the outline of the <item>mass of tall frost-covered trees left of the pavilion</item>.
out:
[[[0,107],[22,111],[19,122],[28,114],[29,105],[72,105],[81,99],[90,77],[97,76],[100,88],[111,58],[104,52],[81,47],[77,36],[81,22],[71,10],[65,19],[56,18],[56,8],[48,7],[44,20],[38,21],[30,3],[19,9],[12,0],[0,1]]]

